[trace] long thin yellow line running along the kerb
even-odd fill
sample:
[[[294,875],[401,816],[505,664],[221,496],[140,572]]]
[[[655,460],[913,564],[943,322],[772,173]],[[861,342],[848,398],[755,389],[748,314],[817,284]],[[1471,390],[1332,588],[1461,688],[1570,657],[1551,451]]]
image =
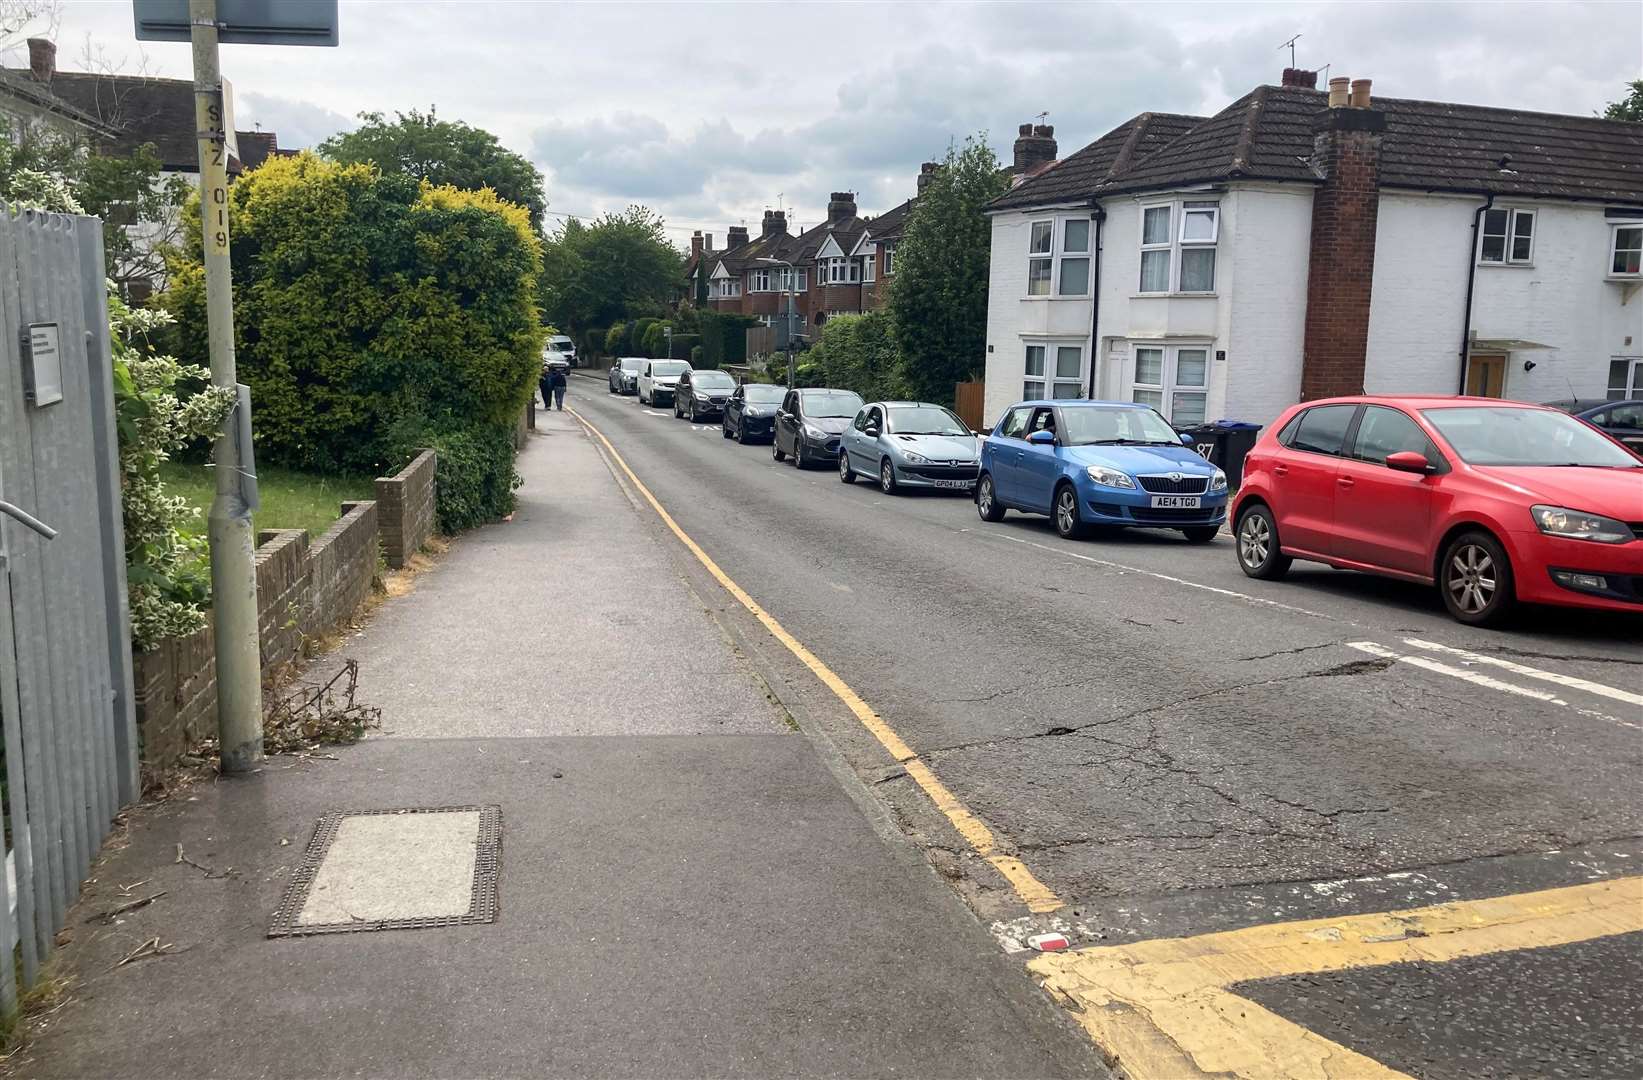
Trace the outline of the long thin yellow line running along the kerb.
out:
[[[964,842],[969,843],[969,847],[973,847],[981,858],[987,860],[1001,875],[1004,875],[1004,879],[1010,883],[1010,888],[1015,889],[1015,896],[1027,904],[1029,911],[1045,912],[1056,911],[1065,906],[1061,898],[1052,893],[1047,884],[1038,881],[1038,878],[1035,878],[1019,858],[999,852],[997,840],[992,835],[992,830],[987,828],[986,822],[971,814],[969,807],[960,802],[958,796],[948,791],[946,784],[937,779],[935,773],[930,771],[930,766],[925,764],[918,755],[914,753],[912,746],[909,746],[902,736],[895,733],[895,728],[884,722],[884,717],[872,712],[868,702],[861,700],[861,695],[849,689],[849,684],[840,679],[831,667],[823,664],[815,653],[800,644],[795,636],[787,633],[787,628],[775,621],[774,615],[759,607],[757,600],[749,597],[741,585],[731,580],[731,577],[721,570],[716,562],[713,562],[708,552],[702,551],[702,546],[690,539],[688,533],[679,528],[674,516],[662,508],[662,503],[659,503],[654,495],[651,495],[651,488],[644,487],[644,482],[634,475],[623,455],[616,452],[614,445],[611,445],[611,441],[605,437],[605,432],[590,424],[588,419],[575,409],[565,411],[575,416],[577,421],[588,429],[588,434],[605,444],[605,449],[610,450],[611,459],[621,465],[621,470],[628,475],[633,487],[647,503],[651,503],[651,510],[662,518],[662,523],[674,533],[674,536],[679,538],[679,542],[697,557],[697,562],[706,567],[708,574],[713,575],[713,580],[723,585],[725,592],[736,597],[736,602],[741,603],[741,607],[748,608],[754,618],[764,623],[764,628],[771,631],[771,636],[780,641],[789,653],[797,656],[798,661],[808,667],[823,685],[826,685],[826,689],[833,690],[833,695],[845,702],[845,707],[849,708],[858,720],[861,720],[861,727],[872,732],[872,736],[879,740],[879,745],[884,746],[884,750],[887,750],[891,756],[895,758],[895,761],[899,761],[907,771],[907,776],[910,776],[914,782],[918,784],[927,796],[930,796],[930,801],[935,802],[937,809],[946,815],[946,820],[953,824],[953,828],[964,837]]]

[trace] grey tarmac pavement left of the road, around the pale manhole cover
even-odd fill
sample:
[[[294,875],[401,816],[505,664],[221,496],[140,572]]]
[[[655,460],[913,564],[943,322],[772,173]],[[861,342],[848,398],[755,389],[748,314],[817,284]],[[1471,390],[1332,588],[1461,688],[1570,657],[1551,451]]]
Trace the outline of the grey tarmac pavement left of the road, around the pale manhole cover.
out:
[[[136,814],[71,925],[76,1001],[13,1068],[1099,1073],[767,699],[568,414],[539,424],[513,523],[342,649],[389,733]],[[453,805],[501,809],[495,922],[266,937],[322,814]],[[164,896],[85,922],[145,879]],[[173,950],[117,967],[153,937]]]

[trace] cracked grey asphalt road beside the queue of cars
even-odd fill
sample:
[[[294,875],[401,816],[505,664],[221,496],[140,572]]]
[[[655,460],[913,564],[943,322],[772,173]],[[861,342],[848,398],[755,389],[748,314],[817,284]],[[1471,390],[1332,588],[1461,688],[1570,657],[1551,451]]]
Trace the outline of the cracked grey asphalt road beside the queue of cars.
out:
[[[1640,620],[1533,612],[1503,633],[1466,628],[1418,587],[1301,564],[1250,580],[1226,536],[1066,542],[1040,518],[986,524],[963,496],[795,472],[596,380],[573,378],[568,403],[1063,902],[1029,912],[928,789],[706,582],[784,704],[826,727],[1006,947],[1052,927],[1111,945],[1631,881],[1643,863]],[[1443,1034],[1451,1018],[1429,999],[1397,1004],[1444,993],[1459,968],[1443,965],[1392,990],[1359,965],[1323,991],[1300,973],[1249,996],[1420,1075],[1535,1075],[1546,1060],[1628,1075],[1643,1064],[1643,927],[1618,929],[1631,932],[1548,939],[1535,965],[1482,963],[1470,1011],[1493,1019],[1467,1021],[1475,1034]],[[1569,1021],[1571,980],[1610,1008]]]

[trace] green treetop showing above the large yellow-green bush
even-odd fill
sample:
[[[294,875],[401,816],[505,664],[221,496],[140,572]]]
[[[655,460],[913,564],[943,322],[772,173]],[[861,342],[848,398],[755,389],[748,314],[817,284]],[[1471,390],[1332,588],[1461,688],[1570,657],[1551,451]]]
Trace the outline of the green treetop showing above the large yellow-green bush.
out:
[[[529,210],[531,227],[542,228],[547,209],[542,173],[485,128],[440,120],[432,107],[396,112],[393,120],[380,112],[361,112],[360,122],[358,128],[327,138],[319,151],[342,164],[371,161],[383,173],[404,173],[435,187],[490,187],[504,202]]]

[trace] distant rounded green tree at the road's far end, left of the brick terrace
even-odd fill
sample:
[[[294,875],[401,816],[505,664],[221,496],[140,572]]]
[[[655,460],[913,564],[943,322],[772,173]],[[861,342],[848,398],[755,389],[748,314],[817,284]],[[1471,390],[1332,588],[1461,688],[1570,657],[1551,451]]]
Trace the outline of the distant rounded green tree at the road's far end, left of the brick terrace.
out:
[[[542,248],[542,312],[572,334],[659,314],[683,273],[662,217],[642,205],[590,224],[570,219]]]

